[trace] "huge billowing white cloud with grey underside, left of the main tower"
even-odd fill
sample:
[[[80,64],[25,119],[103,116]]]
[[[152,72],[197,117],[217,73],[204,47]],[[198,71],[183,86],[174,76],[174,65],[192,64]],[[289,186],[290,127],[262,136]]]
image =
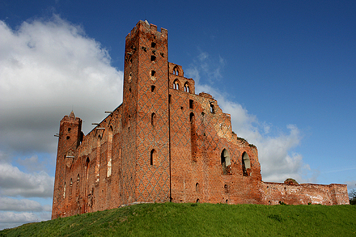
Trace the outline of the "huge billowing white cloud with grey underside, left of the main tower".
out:
[[[88,119],[88,132],[105,108],[120,104],[123,73],[81,27],[59,16],[25,22],[16,31],[0,21],[0,35],[2,150],[53,152],[53,128],[72,106]]]

